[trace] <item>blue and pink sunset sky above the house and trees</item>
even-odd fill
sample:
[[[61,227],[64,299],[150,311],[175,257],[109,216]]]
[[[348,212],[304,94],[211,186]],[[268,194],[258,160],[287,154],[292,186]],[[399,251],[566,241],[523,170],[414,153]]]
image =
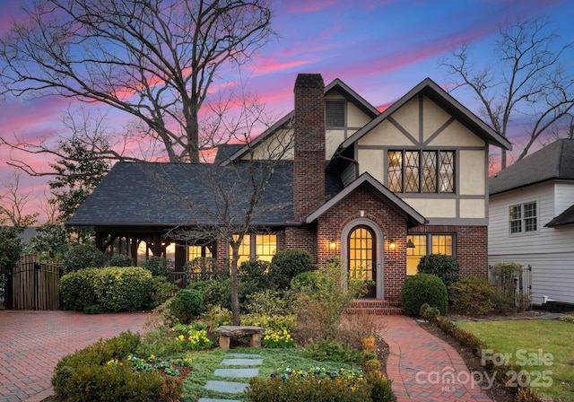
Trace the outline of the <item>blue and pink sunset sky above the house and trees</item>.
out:
[[[21,2],[0,0],[0,35],[22,13]],[[559,43],[574,42],[574,3],[569,0],[445,0],[352,1],[297,0],[274,4],[274,30],[280,38],[262,48],[249,74],[249,90],[256,92],[275,116],[292,109],[292,88],[299,73],[320,73],[325,83],[339,78],[371,104],[384,109],[410,91],[425,77],[448,88],[440,57],[464,42],[474,43],[481,63],[493,63],[491,49],[500,27],[517,19],[548,17]],[[565,59],[574,66],[572,52]],[[477,112],[469,92],[453,95]],[[45,100],[4,100],[0,108],[0,135],[19,135],[34,143],[65,133],[61,118],[74,104],[51,97]],[[120,126],[125,117],[109,113],[109,127]],[[513,133],[519,132],[519,127]],[[512,138],[511,138],[512,140]],[[0,148],[0,194],[13,174],[5,162],[8,149]],[[34,158],[39,170],[48,158]],[[22,175],[21,190],[34,191],[36,208],[46,178]]]

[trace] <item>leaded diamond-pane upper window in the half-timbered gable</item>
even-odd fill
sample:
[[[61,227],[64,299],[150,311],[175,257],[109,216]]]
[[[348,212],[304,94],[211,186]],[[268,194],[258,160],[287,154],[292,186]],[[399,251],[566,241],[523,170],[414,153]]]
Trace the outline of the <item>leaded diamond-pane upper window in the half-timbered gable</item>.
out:
[[[387,187],[397,193],[454,193],[454,151],[389,151]]]

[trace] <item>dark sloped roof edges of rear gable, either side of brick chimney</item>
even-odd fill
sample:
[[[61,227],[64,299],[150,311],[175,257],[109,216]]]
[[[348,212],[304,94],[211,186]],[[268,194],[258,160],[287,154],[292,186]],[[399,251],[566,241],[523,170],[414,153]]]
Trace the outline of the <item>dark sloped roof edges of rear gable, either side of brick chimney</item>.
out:
[[[338,78],[336,78],[331,83],[326,85],[325,94],[328,94],[330,92],[341,92],[347,100],[351,101],[357,108],[361,109],[370,118],[375,118],[380,114],[377,108],[375,108],[367,100],[362,98],[361,95],[359,95],[357,92],[354,92],[350,86],[348,86],[346,83],[344,83]],[[294,111],[291,110],[291,112],[283,116],[283,118],[277,121],[272,127],[267,128],[262,134],[257,135],[257,137],[251,142],[251,144],[243,145],[235,153],[230,154],[229,158],[225,162],[222,162],[222,164],[223,165],[229,164],[230,162],[233,162],[241,158],[243,155],[247,154],[249,148],[256,147],[257,144],[263,142],[267,137],[274,135],[274,133],[278,129],[285,127],[287,123],[291,121],[293,115]]]

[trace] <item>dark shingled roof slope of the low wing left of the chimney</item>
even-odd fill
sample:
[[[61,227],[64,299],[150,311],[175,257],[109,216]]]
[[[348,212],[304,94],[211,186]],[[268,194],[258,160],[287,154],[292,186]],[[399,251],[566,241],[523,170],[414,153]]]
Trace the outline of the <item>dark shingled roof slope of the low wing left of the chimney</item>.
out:
[[[258,163],[257,169],[268,165]],[[251,163],[252,164],[252,163]],[[219,224],[244,219],[248,195],[241,182],[248,163],[117,162],[70,218],[70,226],[155,226]],[[292,163],[274,162],[274,174],[252,215],[254,225],[292,222]],[[238,179],[239,178],[239,179]],[[218,197],[225,191],[230,198]],[[227,201],[227,205],[225,204]]]

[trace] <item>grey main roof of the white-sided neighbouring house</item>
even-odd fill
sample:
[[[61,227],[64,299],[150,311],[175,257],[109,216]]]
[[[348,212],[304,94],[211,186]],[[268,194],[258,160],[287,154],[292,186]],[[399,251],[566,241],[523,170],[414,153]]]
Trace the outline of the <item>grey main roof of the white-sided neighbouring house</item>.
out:
[[[574,180],[574,139],[562,138],[489,179],[490,195],[552,179]]]

